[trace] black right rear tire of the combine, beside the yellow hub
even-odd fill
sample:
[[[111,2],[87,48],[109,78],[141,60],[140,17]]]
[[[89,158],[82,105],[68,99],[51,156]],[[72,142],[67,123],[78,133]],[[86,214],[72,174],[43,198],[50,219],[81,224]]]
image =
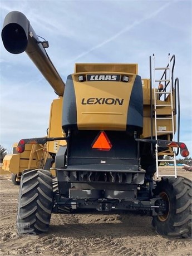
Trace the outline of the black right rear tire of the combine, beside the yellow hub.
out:
[[[154,195],[163,198],[167,211],[153,216],[157,233],[175,238],[191,238],[191,180],[163,177],[157,182]]]

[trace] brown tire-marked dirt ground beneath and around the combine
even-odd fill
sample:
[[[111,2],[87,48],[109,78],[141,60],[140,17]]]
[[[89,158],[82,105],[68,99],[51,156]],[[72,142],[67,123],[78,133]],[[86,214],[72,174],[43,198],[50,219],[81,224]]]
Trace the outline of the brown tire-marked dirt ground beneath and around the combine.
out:
[[[182,168],[178,168],[178,175],[192,180],[192,173]],[[151,216],[131,212],[52,214],[48,233],[18,237],[19,187],[12,184],[9,175],[0,175],[0,185],[0,255],[192,255],[191,239],[161,237],[151,226]]]

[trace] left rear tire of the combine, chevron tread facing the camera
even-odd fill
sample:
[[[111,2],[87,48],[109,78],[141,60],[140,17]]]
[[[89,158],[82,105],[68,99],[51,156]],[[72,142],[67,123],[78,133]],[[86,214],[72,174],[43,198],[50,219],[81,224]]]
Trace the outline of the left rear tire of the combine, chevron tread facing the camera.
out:
[[[47,232],[52,206],[53,191],[50,171],[23,171],[18,199],[18,233],[40,234]]]

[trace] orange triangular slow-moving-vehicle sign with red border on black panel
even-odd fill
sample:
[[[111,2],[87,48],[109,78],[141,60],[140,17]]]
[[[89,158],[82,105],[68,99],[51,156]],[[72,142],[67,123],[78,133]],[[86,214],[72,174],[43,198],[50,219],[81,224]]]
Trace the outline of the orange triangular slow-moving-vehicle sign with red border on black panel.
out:
[[[99,135],[95,138],[95,140],[92,142],[92,149],[95,150],[103,150],[103,151],[109,151],[112,147],[112,144],[107,137],[105,131],[101,131]]]

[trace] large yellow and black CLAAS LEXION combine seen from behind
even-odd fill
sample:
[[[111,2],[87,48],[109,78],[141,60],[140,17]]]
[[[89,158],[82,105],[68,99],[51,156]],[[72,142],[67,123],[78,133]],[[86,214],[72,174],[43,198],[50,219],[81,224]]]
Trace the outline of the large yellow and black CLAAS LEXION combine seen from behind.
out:
[[[50,169],[23,171],[18,233],[46,232],[51,213],[66,209],[143,210],[151,213],[158,233],[190,238],[191,181],[176,175],[175,156],[189,151],[174,139],[179,115],[175,56],[168,56],[166,67],[155,67],[150,57],[149,79],[137,75],[137,64],[77,63],[64,83],[47,55],[47,42],[22,13],[7,14],[2,40],[8,52],[26,51],[58,95],[48,135],[17,145],[20,154],[30,144],[48,145],[58,188],[52,188]],[[174,167],[163,176],[159,164],[165,155]]]

